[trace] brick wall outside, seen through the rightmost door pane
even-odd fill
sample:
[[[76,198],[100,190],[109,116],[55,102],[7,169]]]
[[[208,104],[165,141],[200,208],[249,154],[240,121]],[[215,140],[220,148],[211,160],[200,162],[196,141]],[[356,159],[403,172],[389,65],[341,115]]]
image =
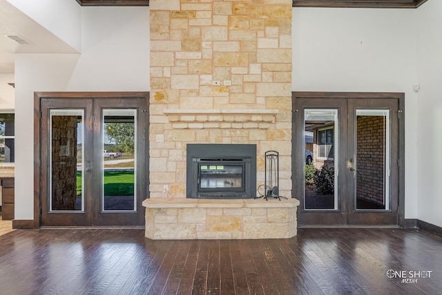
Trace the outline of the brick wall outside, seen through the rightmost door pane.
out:
[[[383,204],[385,118],[358,116],[356,124],[356,196]]]

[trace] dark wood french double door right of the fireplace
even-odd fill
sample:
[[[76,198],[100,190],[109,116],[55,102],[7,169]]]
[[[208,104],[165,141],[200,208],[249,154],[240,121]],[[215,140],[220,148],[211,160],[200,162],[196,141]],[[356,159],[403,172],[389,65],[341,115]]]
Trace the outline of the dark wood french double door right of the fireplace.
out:
[[[401,103],[397,93],[294,92],[298,225],[399,225]]]

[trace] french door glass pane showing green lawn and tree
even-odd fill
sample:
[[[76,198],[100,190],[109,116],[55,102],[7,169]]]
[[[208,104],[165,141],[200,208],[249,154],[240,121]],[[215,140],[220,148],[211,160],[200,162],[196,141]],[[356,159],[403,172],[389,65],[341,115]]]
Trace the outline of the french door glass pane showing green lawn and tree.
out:
[[[131,109],[103,110],[103,211],[137,210],[136,114]]]

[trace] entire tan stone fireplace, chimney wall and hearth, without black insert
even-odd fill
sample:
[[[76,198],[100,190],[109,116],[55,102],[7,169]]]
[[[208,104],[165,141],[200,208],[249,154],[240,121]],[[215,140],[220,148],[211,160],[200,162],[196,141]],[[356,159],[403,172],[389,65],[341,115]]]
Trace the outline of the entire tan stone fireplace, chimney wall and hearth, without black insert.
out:
[[[144,202],[146,236],[173,238],[167,231],[187,233],[182,238],[296,234],[295,199],[186,198],[187,147],[203,143],[255,145],[254,188],[265,182],[265,152],[278,151],[279,192],[291,196],[291,4],[150,1],[151,199]],[[173,200],[162,199],[165,191]],[[281,206],[291,213],[279,216],[287,211]],[[278,221],[287,224],[276,230],[271,223]]]

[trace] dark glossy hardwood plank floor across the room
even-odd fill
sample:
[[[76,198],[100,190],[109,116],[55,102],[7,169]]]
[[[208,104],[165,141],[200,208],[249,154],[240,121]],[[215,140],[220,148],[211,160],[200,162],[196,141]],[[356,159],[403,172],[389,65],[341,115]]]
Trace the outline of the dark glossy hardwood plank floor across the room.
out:
[[[308,228],[290,239],[233,241],[102,229],[0,236],[0,294],[441,292],[442,237],[416,230]]]

